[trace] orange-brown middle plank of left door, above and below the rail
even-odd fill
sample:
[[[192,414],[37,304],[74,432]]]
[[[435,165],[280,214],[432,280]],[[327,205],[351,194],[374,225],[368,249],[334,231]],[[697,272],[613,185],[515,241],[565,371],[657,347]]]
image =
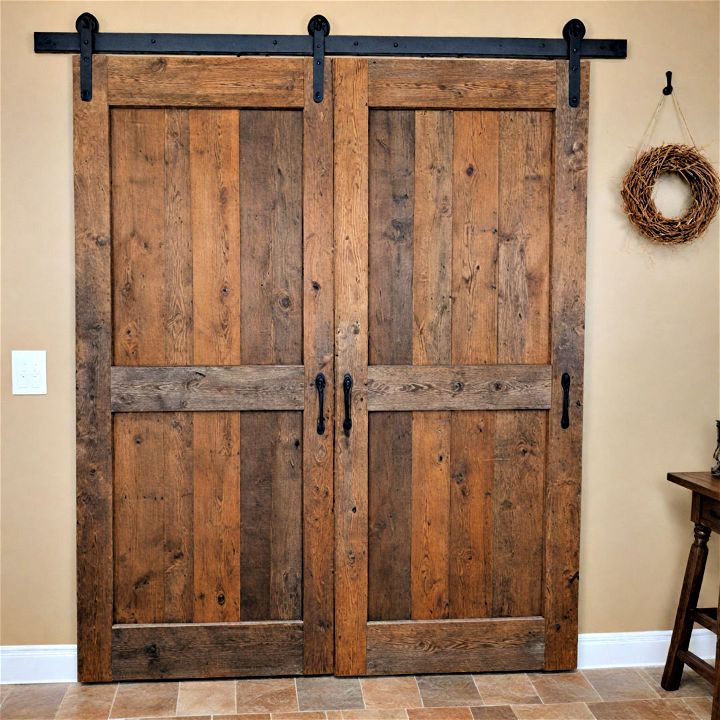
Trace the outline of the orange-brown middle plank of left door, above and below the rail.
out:
[[[240,363],[239,114],[191,110],[193,357]],[[193,418],[194,619],[240,619],[240,417]]]

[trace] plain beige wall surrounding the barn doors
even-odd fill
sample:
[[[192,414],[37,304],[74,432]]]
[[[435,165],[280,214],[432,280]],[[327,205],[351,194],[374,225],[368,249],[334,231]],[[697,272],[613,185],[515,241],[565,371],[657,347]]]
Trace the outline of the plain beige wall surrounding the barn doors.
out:
[[[628,60],[592,65],[580,625],[671,627],[690,507],[664,475],[706,468],[714,447],[718,224],[687,247],[652,246],[618,184],[666,69],[717,162],[717,2],[3,2],[0,642],[74,642],[70,58],[34,55],[32,32],[71,30],[88,9],[108,31],[302,33],[323,12],[337,34],[548,37],[577,14],[589,37],[629,39]],[[679,137],[668,106],[655,140]],[[43,348],[48,395],[13,397],[11,349]]]

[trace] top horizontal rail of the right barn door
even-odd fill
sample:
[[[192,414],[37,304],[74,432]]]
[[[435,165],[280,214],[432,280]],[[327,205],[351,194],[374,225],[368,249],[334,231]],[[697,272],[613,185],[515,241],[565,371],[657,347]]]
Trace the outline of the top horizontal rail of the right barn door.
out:
[[[373,108],[555,107],[552,63],[542,60],[370,60]]]

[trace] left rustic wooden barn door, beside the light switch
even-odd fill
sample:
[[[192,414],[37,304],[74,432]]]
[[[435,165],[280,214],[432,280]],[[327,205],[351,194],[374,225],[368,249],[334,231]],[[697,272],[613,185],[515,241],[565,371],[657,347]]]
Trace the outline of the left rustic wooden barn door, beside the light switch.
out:
[[[332,95],[310,62],[98,56],[91,102],[76,63],[83,681],[332,672]]]

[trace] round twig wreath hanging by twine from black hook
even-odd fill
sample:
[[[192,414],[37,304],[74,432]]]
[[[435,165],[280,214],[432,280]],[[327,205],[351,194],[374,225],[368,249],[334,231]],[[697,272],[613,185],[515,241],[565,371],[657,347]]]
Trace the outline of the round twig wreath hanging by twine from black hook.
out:
[[[673,93],[672,73],[668,70],[666,75],[667,85],[640,140],[635,161],[623,178],[620,194],[625,214],[645,237],[663,245],[679,245],[702,235],[717,214],[720,177],[695,144],[680,103]],[[643,151],[668,96],[672,98],[689,143],[663,143]],[[664,216],[653,199],[655,183],[666,174],[678,176],[690,189],[690,205],[680,217]]]

